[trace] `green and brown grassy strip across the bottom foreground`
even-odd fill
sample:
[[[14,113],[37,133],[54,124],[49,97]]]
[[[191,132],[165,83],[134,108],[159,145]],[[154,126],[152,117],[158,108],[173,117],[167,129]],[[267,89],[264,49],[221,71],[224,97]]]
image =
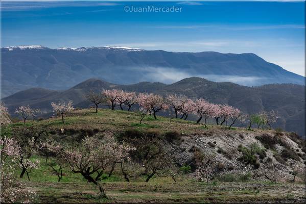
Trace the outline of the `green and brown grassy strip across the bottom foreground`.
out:
[[[302,201],[303,184],[270,182],[221,182],[199,183],[189,176],[179,175],[174,182],[169,177],[153,177],[146,183],[143,178],[125,182],[122,175],[105,175],[100,181],[107,199],[100,198],[98,189],[88,184],[79,174],[65,170],[58,183],[57,175],[41,158],[39,169],[30,174],[30,182],[22,179],[37,192],[39,202],[264,202]]]

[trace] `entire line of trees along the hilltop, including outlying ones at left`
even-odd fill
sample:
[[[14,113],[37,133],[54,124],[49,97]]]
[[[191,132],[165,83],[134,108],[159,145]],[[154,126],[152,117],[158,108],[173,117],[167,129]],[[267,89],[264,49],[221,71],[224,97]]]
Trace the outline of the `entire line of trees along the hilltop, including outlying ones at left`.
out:
[[[278,115],[275,111],[265,112],[262,111],[259,114],[252,114],[250,116],[243,115],[242,112],[229,105],[220,105],[209,103],[203,98],[191,99],[184,95],[169,94],[166,98],[161,95],[153,93],[139,93],[127,92],[123,90],[103,90],[102,92],[90,91],[85,97],[96,106],[96,113],[98,112],[98,105],[107,103],[111,110],[119,106],[121,110],[124,110],[124,106],[130,111],[132,106],[138,105],[139,110],[143,113],[142,119],[145,115],[153,115],[156,119],[157,112],[171,110],[174,113],[175,118],[186,120],[191,114],[197,115],[197,123],[204,120],[204,126],[208,119],[214,119],[217,125],[228,124],[229,129],[233,124],[240,119],[241,123],[249,121],[249,129],[252,124],[257,124],[259,128],[267,124],[271,129],[271,123],[275,123]],[[53,111],[61,115],[62,122],[64,123],[64,114],[74,110],[73,102],[69,103],[51,103]],[[4,107],[5,111],[5,107]],[[16,109],[15,113],[19,114],[23,118],[23,122],[30,116],[35,118],[36,114],[41,113],[39,109],[31,109],[30,106],[20,106]],[[141,123],[142,120],[140,120]]]

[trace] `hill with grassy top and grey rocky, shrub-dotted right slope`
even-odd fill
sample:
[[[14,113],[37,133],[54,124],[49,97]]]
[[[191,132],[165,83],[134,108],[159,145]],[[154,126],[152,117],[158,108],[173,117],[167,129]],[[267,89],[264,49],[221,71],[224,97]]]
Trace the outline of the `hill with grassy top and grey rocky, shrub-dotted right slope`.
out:
[[[301,181],[306,163],[306,146],[294,133],[274,130],[247,130],[225,126],[201,124],[179,119],[147,116],[139,124],[137,113],[126,111],[91,109],[70,113],[62,124],[60,118],[36,121],[34,124],[49,132],[49,137],[59,141],[80,141],[85,136],[99,135],[102,138],[125,138],[146,136],[162,138],[163,146],[172,150],[178,166],[191,166],[195,171],[196,162],[211,156],[215,176],[225,174],[248,174],[254,180],[267,180],[266,175],[277,169],[278,181],[291,181],[297,171],[296,181]],[[3,132],[18,135],[32,122],[9,125]],[[31,126],[31,125],[30,125]],[[192,173],[191,176],[194,174]]]

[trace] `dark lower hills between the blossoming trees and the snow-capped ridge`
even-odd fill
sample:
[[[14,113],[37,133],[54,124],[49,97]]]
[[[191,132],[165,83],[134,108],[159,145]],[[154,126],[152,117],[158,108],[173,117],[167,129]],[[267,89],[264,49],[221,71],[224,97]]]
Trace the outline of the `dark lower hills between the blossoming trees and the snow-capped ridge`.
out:
[[[229,104],[241,109],[245,114],[258,113],[261,110],[276,110],[280,119],[274,127],[294,131],[304,135],[304,86],[294,84],[271,84],[258,87],[241,86],[234,83],[216,83],[202,78],[187,78],[167,85],[163,83],[142,82],[132,85],[118,85],[99,79],[86,80],[65,91],[31,88],[3,98],[13,114],[16,107],[30,104],[40,108],[45,116],[51,115],[53,101],[72,99],[75,107],[92,106],[84,98],[88,91],[102,89],[123,89],[136,92],[154,92],[162,95],[169,93],[184,94],[191,98],[203,97],[213,103]],[[49,113],[49,114],[48,114]]]

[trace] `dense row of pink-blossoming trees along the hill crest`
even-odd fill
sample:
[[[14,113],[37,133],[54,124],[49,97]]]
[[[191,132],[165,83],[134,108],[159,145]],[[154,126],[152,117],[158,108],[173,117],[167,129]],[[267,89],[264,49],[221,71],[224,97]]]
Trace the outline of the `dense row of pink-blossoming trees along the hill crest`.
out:
[[[237,108],[229,105],[218,105],[209,103],[203,98],[190,99],[183,95],[170,94],[166,98],[158,94],[153,93],[139,93],[125,92],[123,90],[104,90],[101,93],[90,93],[89,98],[101,98],[104,96],[111,110],[114,110],[116,106],[120,106],[123,110],[123,105],[128,106],[128,111],[135,104],[139,105],[139,110],[145,114],[153,115],[156,119],[156,113],[159,111],[166,111],[171,109],[174,112],[174,117],[181,119],[187,119],[190,114],[198,115],[197,123],[204,119],[204,125],[206,127],[206,121],[209,118],[215,118],[217,124],[223,124],[228,120],[231,121],[229,127],[231,127],[236,120],[242,115],[241,111]],[[99,97],[98,97],[99,96]],[[92,103],[98,104],[96,100],[91,100]],[[98,108],[98,106],[97,106]],[[98,109],[96,109],[98,111]]]

